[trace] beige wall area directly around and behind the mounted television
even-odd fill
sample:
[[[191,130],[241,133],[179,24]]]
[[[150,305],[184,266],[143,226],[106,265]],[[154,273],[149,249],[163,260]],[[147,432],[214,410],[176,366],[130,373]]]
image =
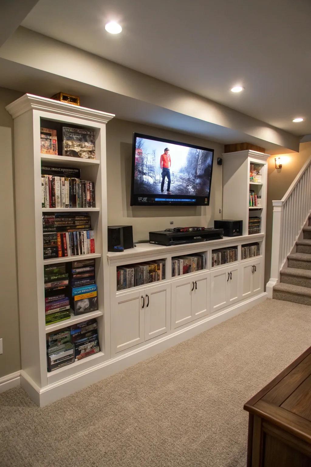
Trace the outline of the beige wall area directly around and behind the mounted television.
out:
[[[111,120],[107,126],[107,190],[108,225],[132,225],[134,241],[149,239],[149,231],[170,226],[214,226],[214,219],[221,219],[221,166],[217,157],[223,145],[193,136],[149,127],[124,120]],[[210,205],[205,206],[130,206],[131,149],[133,132],[149,134],[174,141],[193,143],[214,148],[214,166]]]

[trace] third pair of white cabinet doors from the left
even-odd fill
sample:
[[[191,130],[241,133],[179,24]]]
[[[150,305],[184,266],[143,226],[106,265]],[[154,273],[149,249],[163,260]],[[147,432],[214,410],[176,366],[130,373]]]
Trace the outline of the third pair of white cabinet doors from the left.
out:
[[[220,310],[240,298],[239,265],[211,272],[211,312]]]

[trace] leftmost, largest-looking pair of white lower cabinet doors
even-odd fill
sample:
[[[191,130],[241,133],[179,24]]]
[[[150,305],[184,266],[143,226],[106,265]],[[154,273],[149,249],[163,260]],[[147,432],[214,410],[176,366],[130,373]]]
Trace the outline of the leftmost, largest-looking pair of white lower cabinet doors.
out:
[[[169,330],[171,284],[124,293],[111,300],[111,349],[114,353]]]

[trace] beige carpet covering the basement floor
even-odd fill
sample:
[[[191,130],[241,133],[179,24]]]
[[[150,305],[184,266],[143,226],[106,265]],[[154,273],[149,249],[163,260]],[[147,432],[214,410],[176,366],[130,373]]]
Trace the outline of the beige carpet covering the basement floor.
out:
[[[267,300],[39,409],[0,395],[1,467],[244,467],[245,403],[310,347],[311,308]]]

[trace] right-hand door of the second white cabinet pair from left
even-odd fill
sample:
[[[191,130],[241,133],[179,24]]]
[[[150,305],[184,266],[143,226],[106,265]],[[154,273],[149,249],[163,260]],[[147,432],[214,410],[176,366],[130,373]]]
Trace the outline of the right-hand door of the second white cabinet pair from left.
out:
[[[208,315],[210,310],[210,273],[193,276],[194,290],[191,296],[191,315],[193,319]]]

